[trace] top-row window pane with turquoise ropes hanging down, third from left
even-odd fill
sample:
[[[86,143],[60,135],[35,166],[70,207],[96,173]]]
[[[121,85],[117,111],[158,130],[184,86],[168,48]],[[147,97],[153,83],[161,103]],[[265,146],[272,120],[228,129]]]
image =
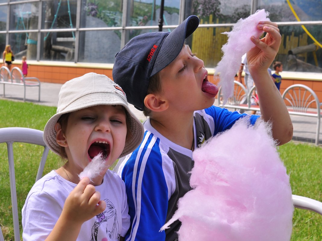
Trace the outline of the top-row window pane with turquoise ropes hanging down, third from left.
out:
[[[76,27],[77,0],[43,2],[43,29],[68,29]]]

